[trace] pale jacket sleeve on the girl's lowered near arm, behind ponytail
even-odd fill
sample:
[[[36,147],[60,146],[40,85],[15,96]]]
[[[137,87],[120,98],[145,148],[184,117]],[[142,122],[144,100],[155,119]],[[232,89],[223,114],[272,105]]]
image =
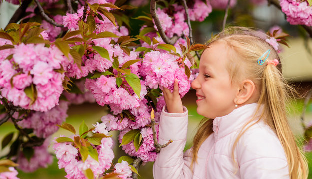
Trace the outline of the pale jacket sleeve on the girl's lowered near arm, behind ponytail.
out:
[[[241,179],[289,179],[286,155],[273,131],[262,128],[242,138],[238,150]]]

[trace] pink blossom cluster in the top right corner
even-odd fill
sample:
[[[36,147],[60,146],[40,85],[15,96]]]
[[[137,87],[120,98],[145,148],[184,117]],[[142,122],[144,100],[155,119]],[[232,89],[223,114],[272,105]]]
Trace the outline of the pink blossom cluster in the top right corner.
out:
[[[280,0],[280,5],[290,24],[312,26],[312,7],[306,1]]]

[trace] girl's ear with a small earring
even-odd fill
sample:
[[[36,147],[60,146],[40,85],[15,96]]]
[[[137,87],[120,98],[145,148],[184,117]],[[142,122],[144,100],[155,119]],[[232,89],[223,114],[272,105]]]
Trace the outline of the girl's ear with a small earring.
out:
[[[249,104],[255,101],[252,100],[253,93],[255,91],[255,84],[251,80],[244,80],[238,88],[237,94],[234,99],[235,104]]]

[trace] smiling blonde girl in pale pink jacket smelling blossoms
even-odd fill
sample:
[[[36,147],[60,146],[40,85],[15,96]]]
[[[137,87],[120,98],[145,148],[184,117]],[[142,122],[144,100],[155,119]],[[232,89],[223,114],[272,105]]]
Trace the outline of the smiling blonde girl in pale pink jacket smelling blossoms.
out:
[[[209,46],[191,84],[205,119],[184,154],[188,111],[177,81],[172,93],[163,90],[159,143],[173,142],[157,156],[154,179],[307,178],[307,163],[287,123],[290,87],[277,52],[246,28],[227,29]]]

